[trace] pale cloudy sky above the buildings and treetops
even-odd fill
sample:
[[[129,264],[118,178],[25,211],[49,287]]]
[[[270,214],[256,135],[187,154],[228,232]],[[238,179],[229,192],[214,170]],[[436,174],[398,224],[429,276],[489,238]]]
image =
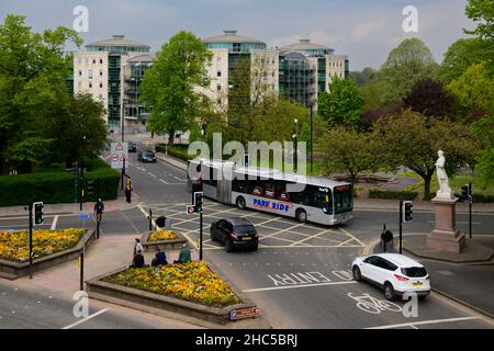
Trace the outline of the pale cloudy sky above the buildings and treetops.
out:
[[[350,70],[379,68],[403,39],[419,37],[442,61],[449,45],[474,27],[467,0],[1,0],[0,19],[23,14],[34,31],[72,27],[77,5],[89,10],[85,43],[125,35],[153,52],[184,30],[204,38],[236,30],[268,47],[310,38],[348,55]],[[403,9],[414,5],[418,32],[405,33]]]

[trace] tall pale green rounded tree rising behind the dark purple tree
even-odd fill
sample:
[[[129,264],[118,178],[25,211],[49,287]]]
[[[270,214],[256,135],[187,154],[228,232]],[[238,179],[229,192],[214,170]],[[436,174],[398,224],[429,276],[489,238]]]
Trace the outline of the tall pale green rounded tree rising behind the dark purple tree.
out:
[[[404,39],[388,56],[381,67],[378,80],[386,87],[386,103],[405,97],[414,84],[423,78],[434,78],[438,65],[429,48],[419,38]]]

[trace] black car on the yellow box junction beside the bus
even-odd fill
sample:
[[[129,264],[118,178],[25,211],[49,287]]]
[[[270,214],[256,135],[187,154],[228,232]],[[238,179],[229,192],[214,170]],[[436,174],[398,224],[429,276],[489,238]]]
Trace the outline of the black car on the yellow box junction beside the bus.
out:
[[[256,227],[245,218],[226,218],[213,223],[211,240],[223,242],[226,252],[236,248],[256,251],[259,245]]]

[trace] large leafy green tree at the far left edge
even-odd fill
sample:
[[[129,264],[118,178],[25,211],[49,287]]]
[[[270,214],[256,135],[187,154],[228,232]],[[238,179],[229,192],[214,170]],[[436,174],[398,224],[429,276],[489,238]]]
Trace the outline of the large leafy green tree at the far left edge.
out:
[[[0,25],[0,174],[30,172],[46,157],[45,126],[67,95],[68,42],[82,43],[66,27],[33,33],[21,15]]]

